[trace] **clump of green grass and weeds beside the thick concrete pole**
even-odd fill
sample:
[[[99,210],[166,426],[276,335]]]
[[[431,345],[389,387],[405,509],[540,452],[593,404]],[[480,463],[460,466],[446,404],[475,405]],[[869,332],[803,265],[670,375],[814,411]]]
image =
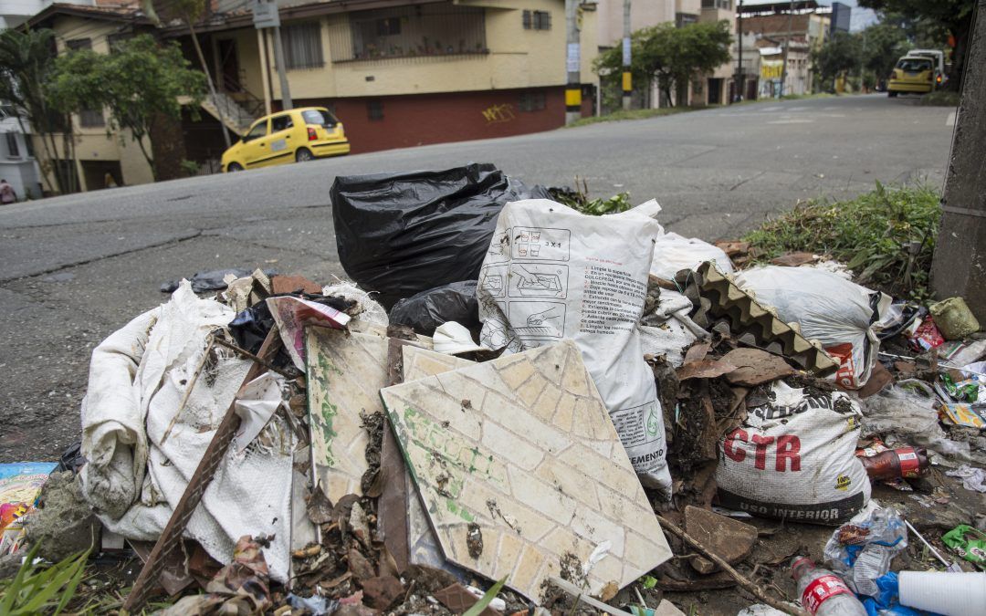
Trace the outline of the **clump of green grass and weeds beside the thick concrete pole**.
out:
[[[942,218],[941,195],[928,186],[871,192],[848,201],[811,200],[768,220],[744,240],[758,258],[785,252],[828,254],[858,272],[857,282],[894,297],[925,300]]]

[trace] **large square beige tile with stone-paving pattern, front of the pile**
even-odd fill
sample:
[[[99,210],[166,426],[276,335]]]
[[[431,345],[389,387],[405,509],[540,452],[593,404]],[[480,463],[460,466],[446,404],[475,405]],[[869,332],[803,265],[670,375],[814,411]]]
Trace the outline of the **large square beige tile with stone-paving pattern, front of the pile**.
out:
[[[573,342],[381,395],[450,561],[537,600],[563,562],[596,593],[670,557]]]

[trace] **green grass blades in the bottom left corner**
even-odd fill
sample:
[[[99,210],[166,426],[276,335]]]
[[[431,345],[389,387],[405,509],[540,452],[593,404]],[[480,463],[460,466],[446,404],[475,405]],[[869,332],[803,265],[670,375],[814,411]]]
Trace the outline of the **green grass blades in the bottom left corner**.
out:
[[[35,565],[37,547],[28,552],[13,579],[0,581],[0,614],[57,616],[75,595],[86,573],[89,550],[45,568]]]

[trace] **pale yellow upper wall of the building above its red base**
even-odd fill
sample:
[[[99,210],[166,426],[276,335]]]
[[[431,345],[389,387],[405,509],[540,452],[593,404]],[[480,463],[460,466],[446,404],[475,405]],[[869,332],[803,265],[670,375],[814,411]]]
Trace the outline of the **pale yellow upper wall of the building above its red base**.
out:
[[[489,53],[333,63],[329,34],[340,35],[349,31],[347,15],[284,22],[290,25],[317,21],[321,27],[322,57],[325,59],[324,66],[319,68],[288,71],[292,99],[384,97],[564,85],[564,2],[463,0],[459,4],[486,7],[486,47]],[[551,30],[524,30],[521,7],[531,11],[550,11]],[[595,11],[585,11],[582,16],[583,83],[594,81],[592,62],[598,54],[596,15]],[[274,98],[279,99],[280,84],[276,72],[273,72],[273,44],[268,45],[268,57]]]

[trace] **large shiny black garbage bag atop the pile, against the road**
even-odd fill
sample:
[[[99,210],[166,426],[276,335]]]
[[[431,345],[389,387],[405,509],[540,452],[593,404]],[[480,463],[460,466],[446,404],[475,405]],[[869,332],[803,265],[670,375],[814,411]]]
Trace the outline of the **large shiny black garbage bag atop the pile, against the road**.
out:
[[[342,267],[389,310],[436,286],[478,279],[503,206],[548,194],[469,163],[336,177],[330,196]]]

